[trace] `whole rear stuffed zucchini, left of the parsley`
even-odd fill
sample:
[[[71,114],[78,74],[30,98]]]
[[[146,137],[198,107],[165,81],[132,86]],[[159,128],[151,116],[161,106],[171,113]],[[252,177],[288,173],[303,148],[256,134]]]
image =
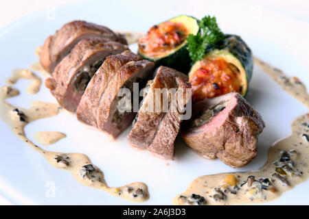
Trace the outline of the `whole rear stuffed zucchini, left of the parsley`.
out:
[[[169,66],[187,73],[190,57],[186,49],[187,36],[198,33],[198,21],[192,16],[177,16],[154,25],[138,42],[139,55],[155,62],[156,66]]]

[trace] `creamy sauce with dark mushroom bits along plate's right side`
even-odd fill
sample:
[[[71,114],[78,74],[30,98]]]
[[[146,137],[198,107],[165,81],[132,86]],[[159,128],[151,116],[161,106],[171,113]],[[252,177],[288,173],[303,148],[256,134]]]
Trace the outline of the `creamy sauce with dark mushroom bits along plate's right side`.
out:
[[[309,107],[306,87],[296,77],[255,58],[255,64],[273,77],[284,90]],[[194,179],[174,198],[175,205],[238,205],[263,203],[281,196],[309,175],[309,114],[296,118],[288,138],[275,142],[266,164],[258,171],[220,173]]]

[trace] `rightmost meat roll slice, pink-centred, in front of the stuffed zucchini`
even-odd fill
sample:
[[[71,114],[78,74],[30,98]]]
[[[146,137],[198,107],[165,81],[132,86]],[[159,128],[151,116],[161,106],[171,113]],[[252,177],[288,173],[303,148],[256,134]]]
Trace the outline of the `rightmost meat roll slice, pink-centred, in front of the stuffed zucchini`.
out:
[[[192,120],[181,128],[183,140],[205,157],[238,168],[258,153],[262,116],[238,93],[205,99],[192,106]]]

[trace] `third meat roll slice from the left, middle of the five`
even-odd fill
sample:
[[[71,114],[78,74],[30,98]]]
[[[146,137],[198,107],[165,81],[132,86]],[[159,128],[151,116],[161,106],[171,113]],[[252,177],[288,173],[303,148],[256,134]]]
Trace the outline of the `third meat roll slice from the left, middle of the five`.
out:
[[[133,112],[131,99],[127,112],[119,110],[118,102],[122,98],[118,92],[121,88],[128,88],[132,98],[133,83],[145,85],[155,66],[153,62],[140,59],[138,55],[128,52],[108,57],[82,96],[77,110],[78,120],[98,127],[113,138],[126,129],[136,112]]]

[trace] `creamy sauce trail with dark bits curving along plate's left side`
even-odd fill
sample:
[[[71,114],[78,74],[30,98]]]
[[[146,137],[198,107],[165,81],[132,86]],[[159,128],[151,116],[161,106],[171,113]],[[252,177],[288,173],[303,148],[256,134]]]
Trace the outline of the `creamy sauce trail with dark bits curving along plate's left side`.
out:
[[[13,73],[10,81],[16,81],[20,78],[37,79],[38,77],[31,73],[31,77],[25,77],[28,70],[21,70],[18,73]],[[35,82],[35,81],[34,81]],[[38,83],[35,83],[38,86]],[[41,85],[41,83],[40,83]],[[32,84],[27,90],[34,89]],[[38,88],[39,89],[39,88]],[[37,88],[34,90],[38,90]],[[30,109],[24,109],[11,105],[6,99],[16,96],[19,91],[11,86],[3,86],[1,88],[0,96],[0,117],[12,129],[12,131],[21,138],[25,143],[30,145],[32,149],[41,153],[45,159],[56,168],[68,170],[71,174],[84,185],[92,188],[98,188],[112,194],[126,198],[130,201],[142,202],[147,201],[149,198],[148,188],[145,183],[136,182],[128,185],[123,185],[117,188],[108,187],[104,180],[103,172],[95,165],[93,165],[87,155],[81,153],[57,153],[41,149],[38,145],[34,144],[25,135],[24,128],[27,124],[35,120],[47,118],[49,116],[56,116],[61,107],[56,103],[32,102]]]

